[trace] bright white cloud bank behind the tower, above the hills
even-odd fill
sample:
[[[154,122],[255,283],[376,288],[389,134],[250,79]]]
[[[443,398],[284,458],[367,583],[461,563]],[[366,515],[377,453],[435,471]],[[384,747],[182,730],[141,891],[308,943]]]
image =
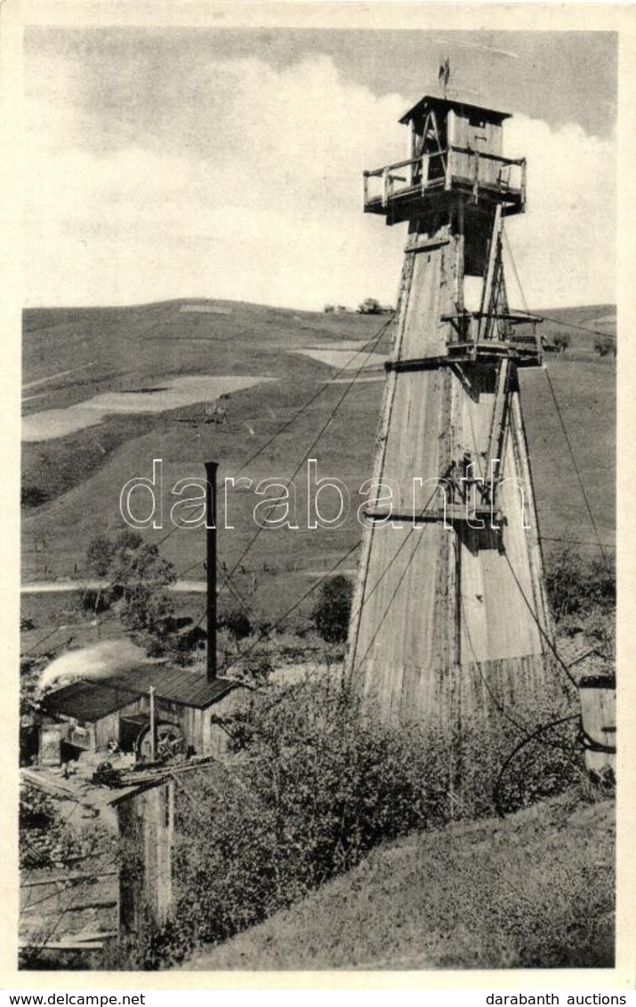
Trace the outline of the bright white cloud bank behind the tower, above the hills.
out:
[[[326,56],[180,65],[154,91],[90,69],[29,63],[27,303],[394,300],[405,228],[362,213],[361,171],[405,156],[407,98]],[[509,225],[528,300],[612,300],[611,144],[523,118],[506,130],[529,162],[528,213]]]

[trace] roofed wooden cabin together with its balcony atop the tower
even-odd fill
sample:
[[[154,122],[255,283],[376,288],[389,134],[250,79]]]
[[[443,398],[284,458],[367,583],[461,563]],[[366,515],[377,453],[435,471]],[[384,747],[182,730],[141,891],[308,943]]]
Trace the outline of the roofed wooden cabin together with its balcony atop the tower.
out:
[[[497,204],[503,217],[523,212],[525,159],[502,156],[507,112],[426,95],[400,120],[410,128],[409,157],[364,172],[364,210],[386,224],[410,221],[434,232],[451,214],[454,230],[490,232]],[[480,276],[486,242],[466,249],[465,272]]]

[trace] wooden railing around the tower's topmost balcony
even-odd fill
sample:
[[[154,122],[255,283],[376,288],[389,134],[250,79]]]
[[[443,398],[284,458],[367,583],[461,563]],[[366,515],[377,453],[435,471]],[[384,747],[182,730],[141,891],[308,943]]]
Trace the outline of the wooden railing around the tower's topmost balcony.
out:
[[[371,190],[371,179],[380,181],[375,191]],[[431,187],[448,190],[456,180],[472,183],[475,199],[480,187],[486,186],[510,192],[520,198],[521,204],[525,203],[525,158],[499,157],[451,145],[446,150],[364,171],[364,205],[379,201],[384,207],[395,196],[418,191],[424,195]]]

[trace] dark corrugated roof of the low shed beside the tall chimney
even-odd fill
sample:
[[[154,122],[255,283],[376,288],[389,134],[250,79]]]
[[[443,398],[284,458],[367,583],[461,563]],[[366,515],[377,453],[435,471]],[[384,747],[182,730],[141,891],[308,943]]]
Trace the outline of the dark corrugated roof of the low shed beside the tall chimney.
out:
[[[94,723],[134,703],[155,687],[155,697],[180,706],[203,710],[240,686],[229,679],[208,682],[205,672],[162,665],[143,665],[117,672],[108,678],[72,682],[48,693],[41,700],[46,713],[74,717]]]

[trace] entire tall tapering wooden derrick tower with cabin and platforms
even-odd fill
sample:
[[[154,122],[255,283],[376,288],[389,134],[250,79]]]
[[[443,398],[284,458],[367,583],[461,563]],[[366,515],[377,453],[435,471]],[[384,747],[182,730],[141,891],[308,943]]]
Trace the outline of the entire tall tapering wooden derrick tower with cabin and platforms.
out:
[[[517,383],[541,347],[506,299],[502,224],[525,204],[506,118],[425,97],[401,120],[408,159],[364,173],[365,211],[409,225],[347,654],[384,720],[488,718],[550,688]]]

